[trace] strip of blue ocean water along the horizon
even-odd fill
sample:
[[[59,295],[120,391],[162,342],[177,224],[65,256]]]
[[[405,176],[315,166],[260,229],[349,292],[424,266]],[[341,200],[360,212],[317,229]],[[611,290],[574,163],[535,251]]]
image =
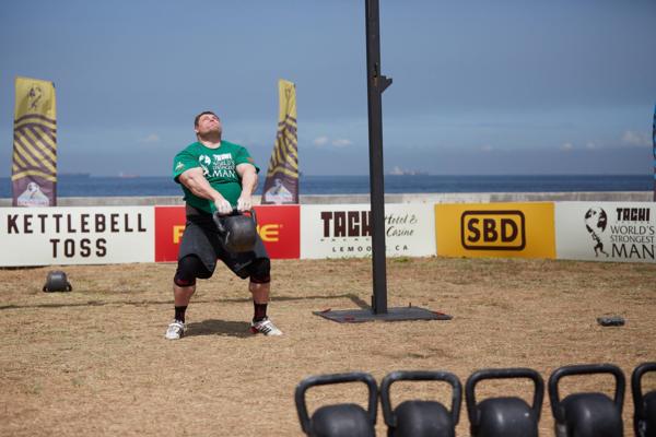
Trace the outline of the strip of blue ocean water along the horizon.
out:
[[[652,175],[436,176],[385,175],[386,193],[651,191]],[[263,178],[256,194],[261,194]],[[302,176],[301,194],[370,192],[368,176]],[[180,196],[169,177],[60,175],[58,197]],[[11,180],[0,178],[0,198],[11,198]]]

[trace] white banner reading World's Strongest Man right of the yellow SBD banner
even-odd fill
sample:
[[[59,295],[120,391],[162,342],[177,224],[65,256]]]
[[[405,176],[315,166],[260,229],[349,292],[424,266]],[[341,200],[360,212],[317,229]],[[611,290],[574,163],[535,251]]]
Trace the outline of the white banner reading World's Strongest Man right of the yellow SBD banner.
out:
[[[656,205],[648,202],[557,202],[560,259],[654,262]]]

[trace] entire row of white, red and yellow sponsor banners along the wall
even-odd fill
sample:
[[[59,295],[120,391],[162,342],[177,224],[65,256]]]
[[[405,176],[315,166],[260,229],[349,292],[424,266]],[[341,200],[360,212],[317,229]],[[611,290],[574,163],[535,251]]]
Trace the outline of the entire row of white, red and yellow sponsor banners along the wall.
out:
[[[368,204],[258,205],[273,259],[368,257]],[[385,206],[387,256],[655,262],[653,202],[398,203]],[[0,267],[173,262],[185,210],[0,208]]]

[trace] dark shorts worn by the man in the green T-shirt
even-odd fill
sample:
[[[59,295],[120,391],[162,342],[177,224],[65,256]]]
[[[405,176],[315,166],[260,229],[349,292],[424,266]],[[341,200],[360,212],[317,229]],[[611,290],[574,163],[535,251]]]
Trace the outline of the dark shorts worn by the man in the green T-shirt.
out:
[[[220,259],[242,279],[249,276],[248,267],[254,261],[262,258],[269,259],[269,253],[259,235],[256,237],[255,248],[251,251],[229,252],[221,243],[212,215],[190,208],[187,208],[187,224],[180,243],[178,261],[188,255],[197,256],[210,275],[216,268],[216,260]]]

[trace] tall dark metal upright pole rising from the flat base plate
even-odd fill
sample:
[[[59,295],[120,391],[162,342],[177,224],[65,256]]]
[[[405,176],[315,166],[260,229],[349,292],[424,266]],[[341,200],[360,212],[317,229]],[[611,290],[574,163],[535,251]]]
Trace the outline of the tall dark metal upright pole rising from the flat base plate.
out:
[[[391,79],[380,74],[380,29],[378,0],[365,0],[366,14],[366,88],[368,97],[370,187],[372,214],[372,264],[374,314],[387,312],[385,264],[385,185],[383,179],[383,103],[382,94]]]

